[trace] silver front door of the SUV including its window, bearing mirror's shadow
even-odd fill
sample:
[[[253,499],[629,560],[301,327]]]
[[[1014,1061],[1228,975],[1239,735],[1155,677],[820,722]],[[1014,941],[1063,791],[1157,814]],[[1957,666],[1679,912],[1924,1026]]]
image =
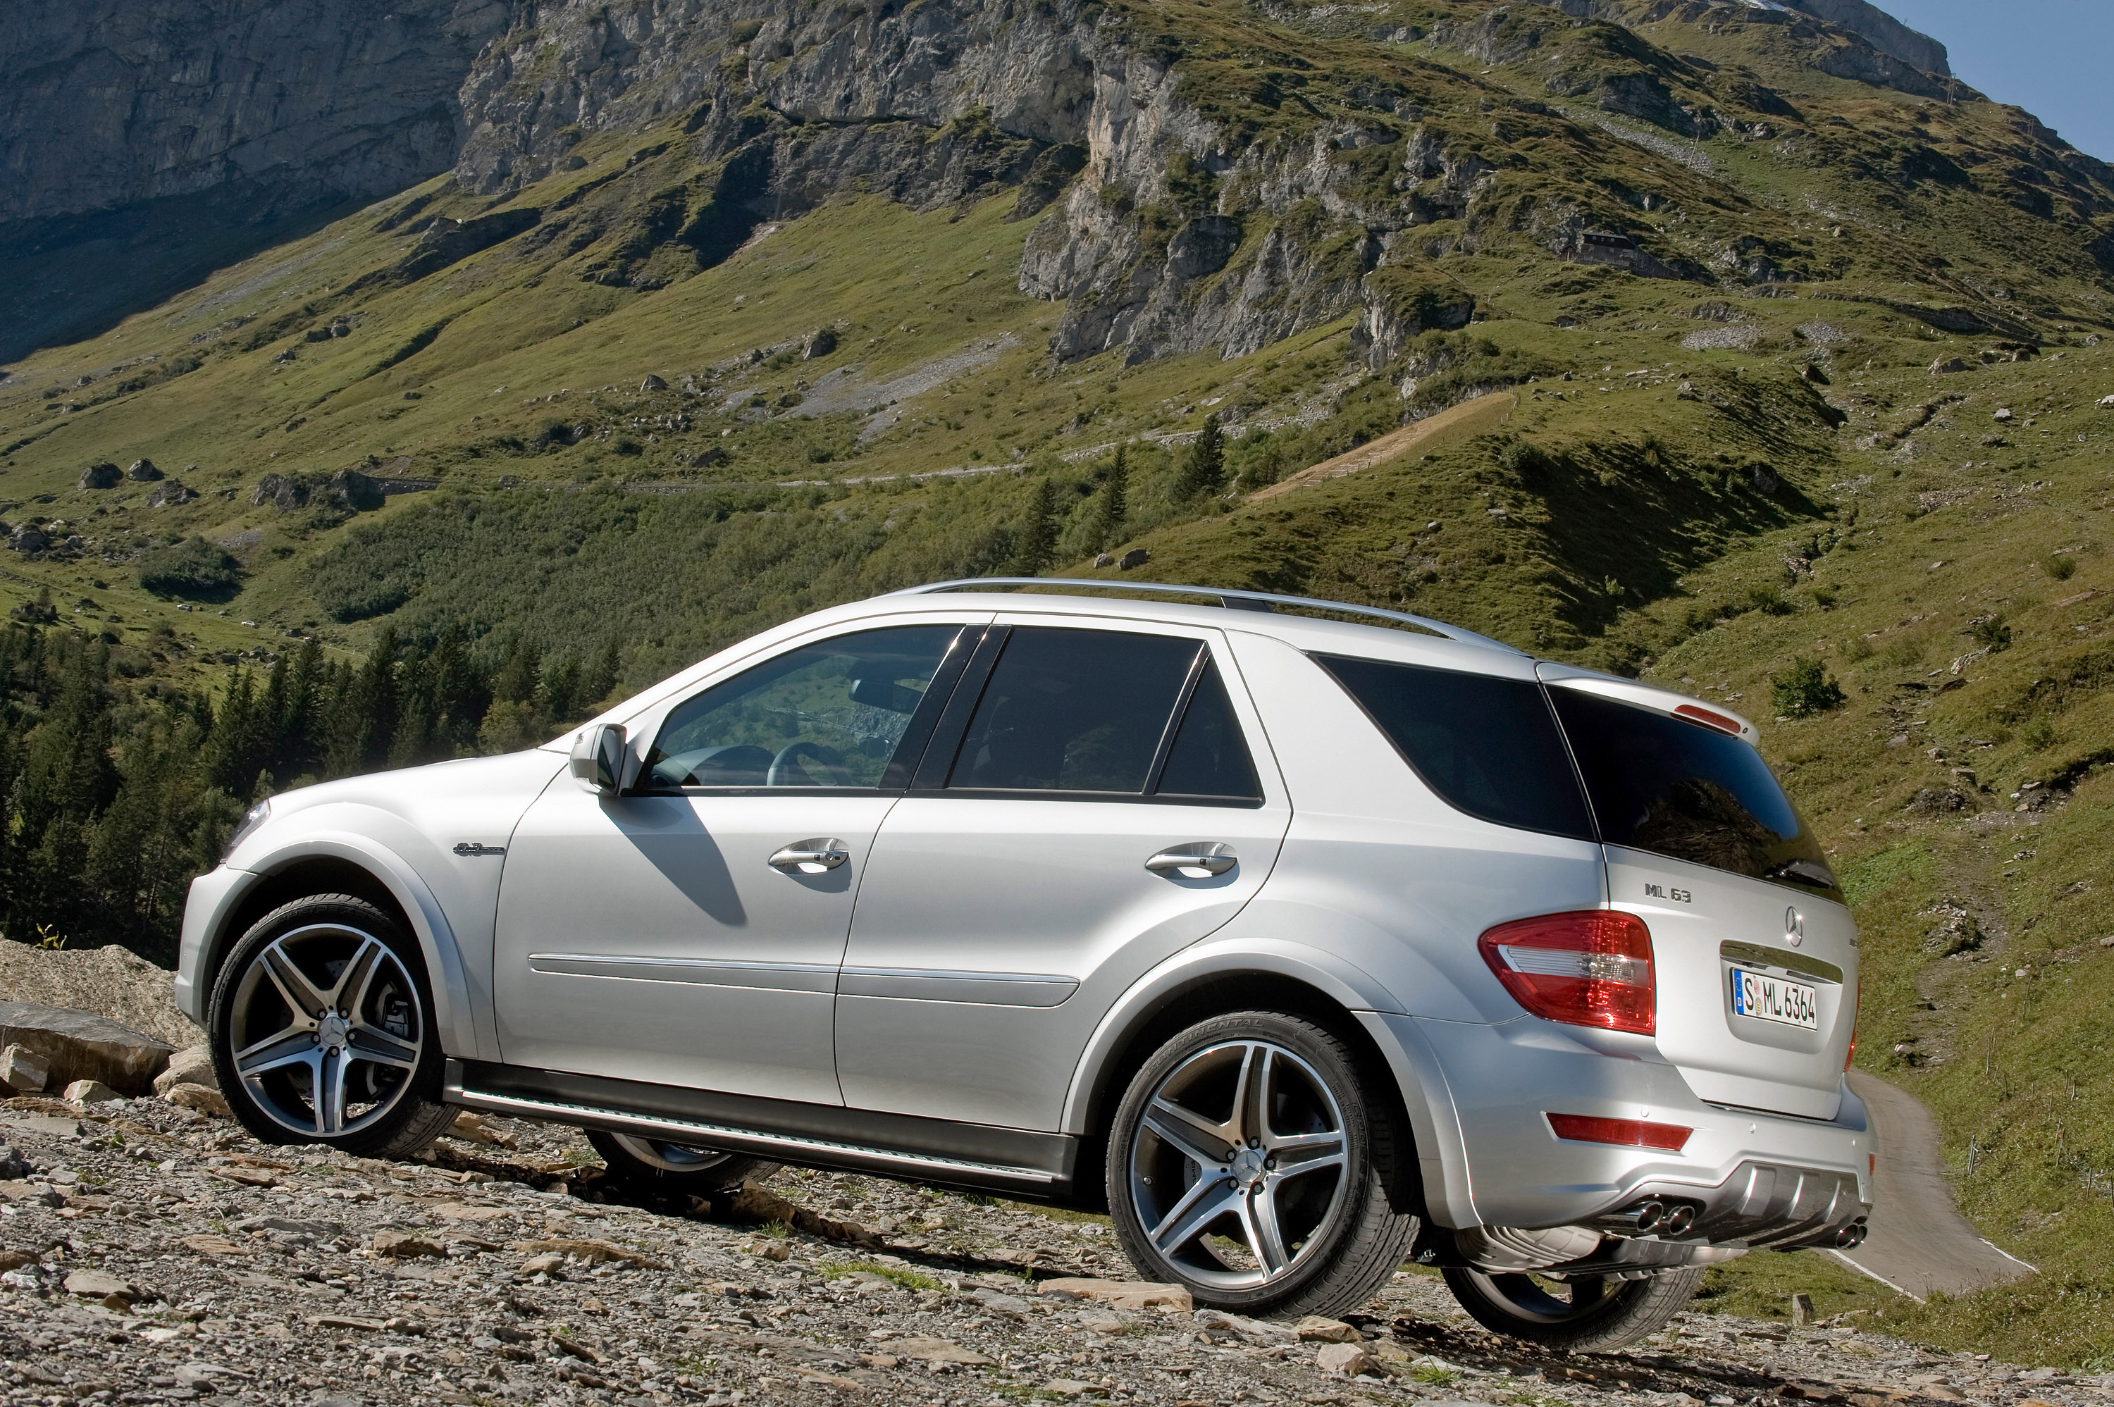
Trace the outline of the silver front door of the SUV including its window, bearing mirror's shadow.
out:
[[[626,794],[558,777],[501,881],[505,1061],[841,1103],[831,1003],[852,898],[960,632],[793,646],[649,718]]]

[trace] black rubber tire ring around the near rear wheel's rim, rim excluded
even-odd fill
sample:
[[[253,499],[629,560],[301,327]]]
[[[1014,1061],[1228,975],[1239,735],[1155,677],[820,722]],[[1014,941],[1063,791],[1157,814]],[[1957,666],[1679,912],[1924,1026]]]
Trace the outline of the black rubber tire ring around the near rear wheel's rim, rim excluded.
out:
[[[1264,1039],[1294,1052],[1306,1061],[1328,1084],[1342,1109],[1345,1124],[1345,1185],[1336,1208],[1336,1225],[1328,1230],[1328,1240],[1306,1251],[1306,1263],[1294,1274],[1258,1284],[1254,1289],[1220,1289],[1199,1284],[1182,1274],[1180,1265],[1167,1261],[1146,1238],[1146,1230],[1131,1204],[1131,1145],[1146,1103],[1161,1080],[1182,1067],[1197,1052],[1232,1039]],[[1165,1278],[1190,1291],[1197,1303],[1239,1312],[1268,1314],[1277,1306],[1298,1299],[1315,1280],[1328,1276],[1342,1249],[1357,1236],[1366,1204],[1372,1200],[1374,1181],[1380,1170],[1372,1158],[1370,1107],[1364,1082],[1355,1067],[1345,1061],[1342,1048],[1309,1020],[1279,1012],[1232,1012],[1201,1020],[1173,1035],[1161,1046],[1131,1077],[1123,1103],[1116,1107],[1108,1137],[1108,1213],[1131,1263],[1154,1278]]]

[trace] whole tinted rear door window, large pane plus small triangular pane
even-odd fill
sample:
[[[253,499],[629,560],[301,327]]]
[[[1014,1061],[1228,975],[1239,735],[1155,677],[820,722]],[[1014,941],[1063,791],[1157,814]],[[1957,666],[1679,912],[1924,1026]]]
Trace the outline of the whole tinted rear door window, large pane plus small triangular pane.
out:
[[[1152,786],[1154,771],[1173,771],[1186,794],[1260,794],[1226,691],[1201,651],[1197,640],[1173,636],[1015,630],[968,720],[947,788],[1135,796]],[[1171,733],[1175,708],[1192,693],[1201,710],[1184,714],[1184,727]]]

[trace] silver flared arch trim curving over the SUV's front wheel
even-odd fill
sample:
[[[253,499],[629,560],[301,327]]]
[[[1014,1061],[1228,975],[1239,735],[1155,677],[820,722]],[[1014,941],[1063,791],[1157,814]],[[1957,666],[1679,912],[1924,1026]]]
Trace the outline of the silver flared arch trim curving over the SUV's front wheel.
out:
[[[478,1054],[469,976],[448,917],[410,864],[364,837],[307,837],[262,860],[252,870],[252,881],[228,894],[205,936],[199,963],[205,991],[211,991],[220,963],[258,919],[309,894],[351,894],[402,923],[425,959],[433,1031],[440,1033],[442,1050]]]

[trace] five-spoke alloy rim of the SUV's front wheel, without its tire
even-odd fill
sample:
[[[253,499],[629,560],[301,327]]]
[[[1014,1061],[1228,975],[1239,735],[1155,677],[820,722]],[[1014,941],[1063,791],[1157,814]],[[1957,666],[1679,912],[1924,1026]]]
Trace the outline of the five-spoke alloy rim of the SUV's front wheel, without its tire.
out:
[[[425,1054],[419,989],[389,944],[340,923],[279,934],[235,989],[230,1048],[252,1103],[302,1137],[359,1132]]]

